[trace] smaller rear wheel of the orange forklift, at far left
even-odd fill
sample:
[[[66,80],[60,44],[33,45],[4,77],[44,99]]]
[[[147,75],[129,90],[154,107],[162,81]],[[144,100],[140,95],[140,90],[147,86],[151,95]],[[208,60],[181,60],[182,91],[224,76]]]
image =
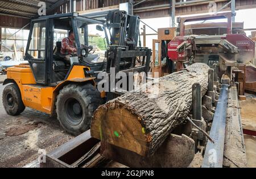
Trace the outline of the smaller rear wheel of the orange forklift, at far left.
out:
[[[11,116],[17,116],[25,109],[19,87],[16,84],[9,84],[5,87],[2,102],[6,113]]]

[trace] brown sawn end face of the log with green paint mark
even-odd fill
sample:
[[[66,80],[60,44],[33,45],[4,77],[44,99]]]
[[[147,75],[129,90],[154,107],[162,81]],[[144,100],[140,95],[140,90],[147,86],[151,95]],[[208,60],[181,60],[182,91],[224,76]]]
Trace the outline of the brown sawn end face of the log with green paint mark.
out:
[[[139,155],[147,155],[148,143],[152,137],[146,133],[142,117],[129,106],[112,101],[103,105],[94,113],[91,135],[115,146],[134,151]]]

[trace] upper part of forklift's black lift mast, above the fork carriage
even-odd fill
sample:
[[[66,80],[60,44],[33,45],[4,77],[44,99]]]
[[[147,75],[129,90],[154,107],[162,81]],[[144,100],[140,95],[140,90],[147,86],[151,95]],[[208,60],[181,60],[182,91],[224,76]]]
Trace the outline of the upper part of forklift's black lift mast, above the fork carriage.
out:
[[[110,32],[110,45],[129,46],[134,50],[138,44],[139,16],[128,15],[126,11],[110,11],[106,17]]]

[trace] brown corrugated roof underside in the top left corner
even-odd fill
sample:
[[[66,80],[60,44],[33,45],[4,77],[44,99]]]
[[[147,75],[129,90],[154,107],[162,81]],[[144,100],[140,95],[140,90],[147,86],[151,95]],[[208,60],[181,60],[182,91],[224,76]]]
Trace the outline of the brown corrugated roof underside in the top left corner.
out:
[[[47,8],[60,0],[41,0],[46,2]],[[40,0],[0,0],[1,15],[15,15],[32,18],[38,15],[38,3]]]

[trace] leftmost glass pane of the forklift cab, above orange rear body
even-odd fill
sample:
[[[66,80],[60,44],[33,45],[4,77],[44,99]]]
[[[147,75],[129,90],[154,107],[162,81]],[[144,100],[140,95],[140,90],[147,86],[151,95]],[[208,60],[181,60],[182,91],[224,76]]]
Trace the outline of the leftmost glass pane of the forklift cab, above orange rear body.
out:
[[[32,58],[45,60],[46,51],[46,22],[35,23],[32,31],[28,54]]]

